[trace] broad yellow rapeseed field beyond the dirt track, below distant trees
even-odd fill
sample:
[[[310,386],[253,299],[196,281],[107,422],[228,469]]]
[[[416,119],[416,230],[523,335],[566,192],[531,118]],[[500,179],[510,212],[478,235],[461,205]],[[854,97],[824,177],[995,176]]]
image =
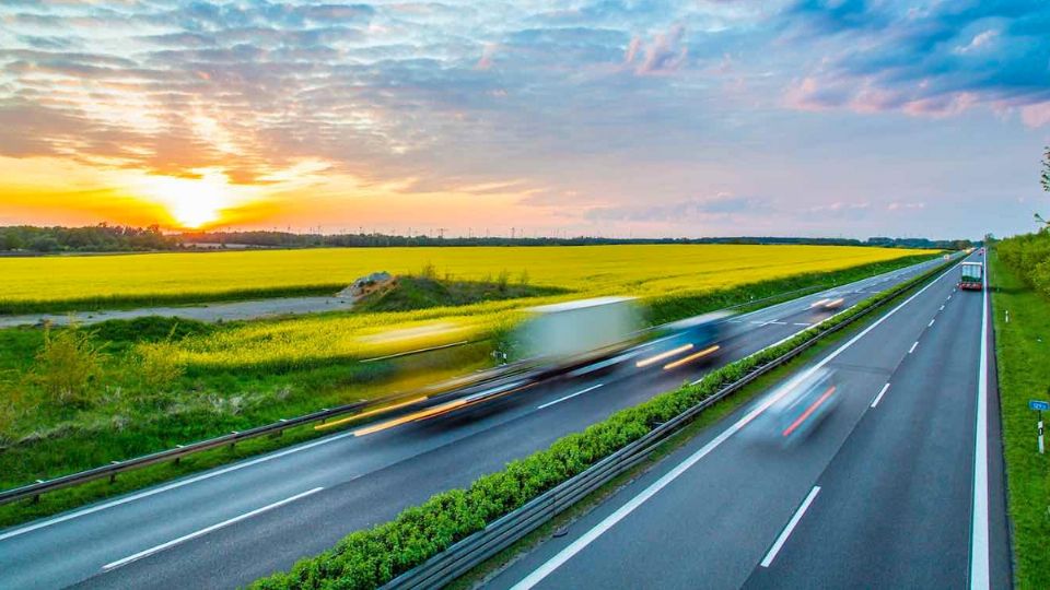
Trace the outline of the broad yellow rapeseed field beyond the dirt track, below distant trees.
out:
[[[703,291],[854,267],[918,250],[840,246],[630,245],[581,247],[340,248],[0,258],[3,304],[143,299],[200,302],[237,292],[328,285],[374,271],[494,279],[523,271],[537,285],[585,294]]]

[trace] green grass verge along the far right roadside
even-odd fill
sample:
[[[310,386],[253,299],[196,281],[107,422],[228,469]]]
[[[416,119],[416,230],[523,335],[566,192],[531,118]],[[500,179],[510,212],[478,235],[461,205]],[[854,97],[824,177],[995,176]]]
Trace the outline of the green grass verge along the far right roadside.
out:
[[[1014,580],[1017,588],[1050,588],[1050,455],[1036,448],[1036,413],[1028,409],[1028,400],[1050,399],[1050,299],[1022,282],[994,250],[988,263]]]

